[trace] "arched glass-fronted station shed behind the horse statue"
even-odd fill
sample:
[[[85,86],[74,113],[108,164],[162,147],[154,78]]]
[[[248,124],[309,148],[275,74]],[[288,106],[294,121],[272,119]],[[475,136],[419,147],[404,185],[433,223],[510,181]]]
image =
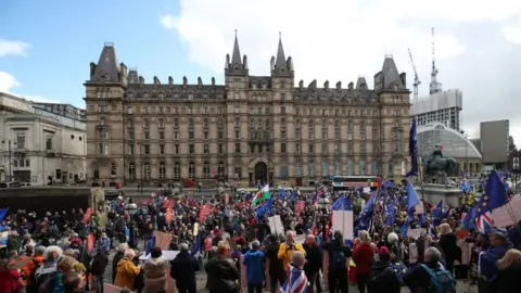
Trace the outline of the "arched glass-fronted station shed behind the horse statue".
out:
[[[417,130],[418,154],[425,162],[434,151],[435,145],[442,145],[444,157],[454,157],[457,167],[449,176],[475,177],[482,169],[481,152],[465,135],[441,123],[418,126]]]

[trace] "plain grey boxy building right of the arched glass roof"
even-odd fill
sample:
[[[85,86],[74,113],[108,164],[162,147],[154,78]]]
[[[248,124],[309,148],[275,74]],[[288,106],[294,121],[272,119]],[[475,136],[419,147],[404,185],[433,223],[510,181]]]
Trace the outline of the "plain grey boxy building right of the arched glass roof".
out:
[[[509,156],[509,120],[482,122],[480,124],[483,164],[495,169],[506,169]]]

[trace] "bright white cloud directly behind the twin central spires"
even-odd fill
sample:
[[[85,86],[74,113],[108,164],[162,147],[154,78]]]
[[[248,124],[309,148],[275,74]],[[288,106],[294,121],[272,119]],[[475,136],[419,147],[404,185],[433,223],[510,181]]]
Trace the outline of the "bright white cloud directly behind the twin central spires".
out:
[[[405,2],[412,4],[412,11],[425,10],[423,4]],[[179,15],[163,15],[161,24],[179,33],[192,62],[215,73],[223,73],[237,28],[241,53],[247,54],[252,75],[269,73],[269,59],[276,54],[278,33],[282,31],[284,51],[293,58],[297,79],[306,84],[315,78],[319,82],[342,80],[346,85],[365,75],[372,84],[385,54],[394,55],[399,71],[409,72],[409,47],[418,69],[427,71],[430,66],[430,28],[401,25],[411,12],[402,13],[405,5],[394,3],[267,0],[252,5],[242,0],[181,0]],[[471,12],[469,18],[479,16],[478,12]],[[443,33],[436,36],[436,48],[440,60],[466,50],[454,36]]]

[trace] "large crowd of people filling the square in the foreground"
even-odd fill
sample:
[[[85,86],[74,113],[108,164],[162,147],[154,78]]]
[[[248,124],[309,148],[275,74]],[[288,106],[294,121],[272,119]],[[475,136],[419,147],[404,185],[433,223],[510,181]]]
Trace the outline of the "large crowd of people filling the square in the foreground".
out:
[[[468,229],[471,192],[459,207],[423,202],[424,212],[410,216],[405,187],[384,196],[379,191],[277,190],[252,204],[255,194],[171,198],[160,190],[141,201],[119,196],[104,214],[16,211],[0,225],[8,234],[0,245],[0,292],[103,292],[112,281],[161,293],[174,279],[178,291],[194,293],[202,290],[198,271],[206,272],[212,293],[344,293],[350,283],[360,293],[456,292],[460,282],[476,283],[480,292],[519,292],[521,229]],[[320,200],[331,204],[319,206]],[[353,211],[354,235],[331,228],[339,201]],[[137,211],[130,213],[129,203]],[[204,215],[203,207],[209,207]],[[269,225],[275,215],[283,232]],[[171,235],[168,247],[156,245],[154,231]],[[168,259],[165,250],[179,254]]]

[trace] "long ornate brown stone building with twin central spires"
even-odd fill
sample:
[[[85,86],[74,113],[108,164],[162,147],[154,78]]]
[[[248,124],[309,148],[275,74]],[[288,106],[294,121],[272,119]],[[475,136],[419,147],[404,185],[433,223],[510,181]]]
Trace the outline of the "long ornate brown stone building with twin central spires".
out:
[[[309,184],[332,175],[401,179],[409,168],[409,90],[392,56],[342,88],[295,85],[279,40],[269,76],[250,75],[236,37],[225,85],[147,84],[105,44],[85,82],[88,179],[124,184],[216,178]]]

